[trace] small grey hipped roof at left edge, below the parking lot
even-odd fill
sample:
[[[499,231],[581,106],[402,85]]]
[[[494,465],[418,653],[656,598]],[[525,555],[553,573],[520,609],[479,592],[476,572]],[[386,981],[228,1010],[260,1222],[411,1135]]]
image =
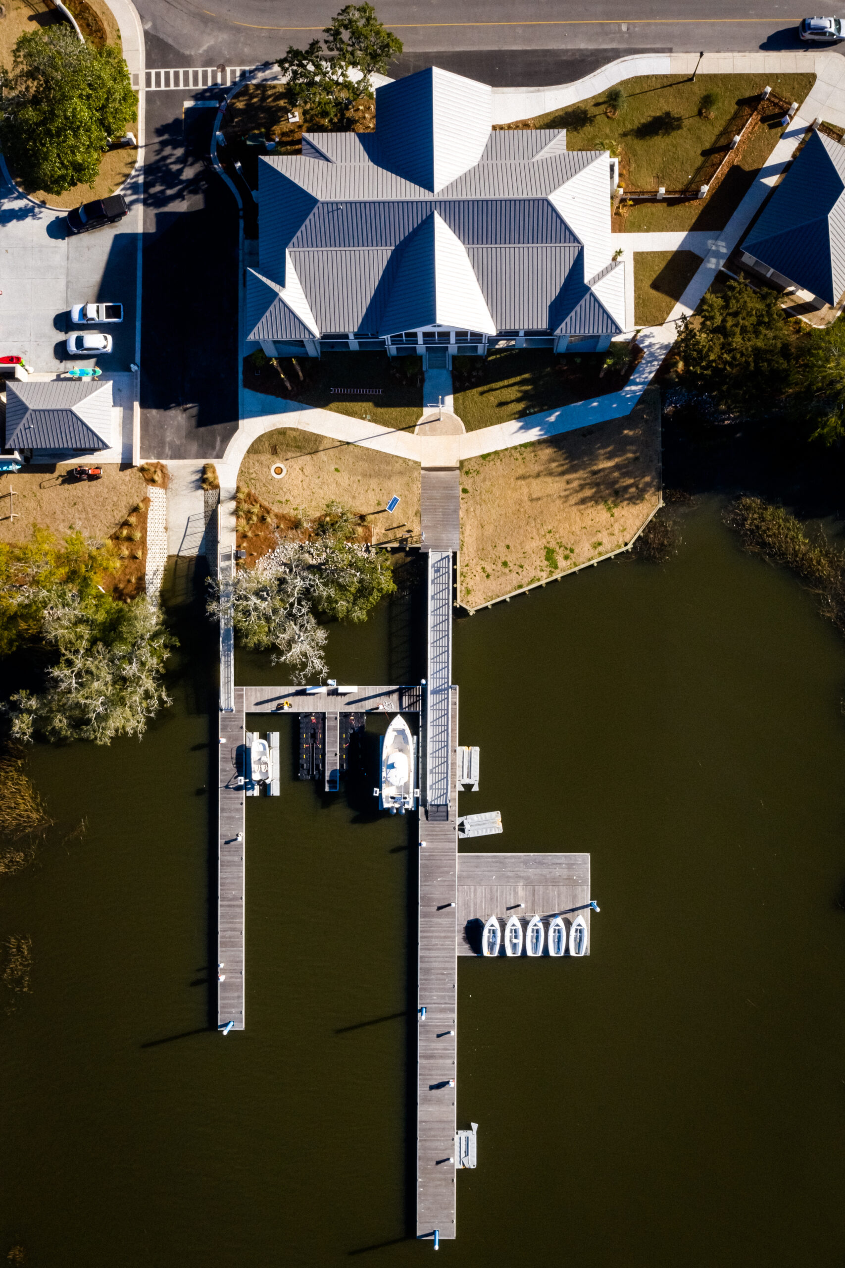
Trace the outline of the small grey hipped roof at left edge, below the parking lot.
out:
[[[111,448],[111,382],[6,383],[6,449]]]

